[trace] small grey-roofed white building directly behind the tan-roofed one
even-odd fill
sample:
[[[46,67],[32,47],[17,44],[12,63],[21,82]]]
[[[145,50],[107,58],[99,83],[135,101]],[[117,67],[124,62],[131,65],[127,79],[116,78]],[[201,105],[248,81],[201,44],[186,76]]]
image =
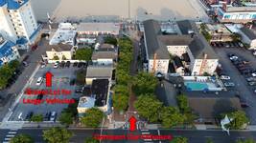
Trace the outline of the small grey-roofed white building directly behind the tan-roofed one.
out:
[[[112,65],[117,60],[116,51],[93,51],[92,62],[97,65]]]

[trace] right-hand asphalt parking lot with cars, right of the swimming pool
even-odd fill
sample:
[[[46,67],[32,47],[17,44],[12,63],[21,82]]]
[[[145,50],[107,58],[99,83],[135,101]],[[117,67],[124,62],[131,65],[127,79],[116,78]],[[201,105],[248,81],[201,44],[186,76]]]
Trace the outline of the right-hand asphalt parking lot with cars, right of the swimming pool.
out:
[[[241,99],[242,107],[250,118],[250,123],[256,124],[256,85],[249,85],[247,78],[252,77],[256,70],[256,57],[251,51],[241,48],[216,48],[221,63],[221,75],[227,75],[230,79],[223,79],[225,83],[234,83],[229,86],[229,91],[234,91]],[[237,56],[238,58],[234,57]],[[231,57],[231,58],[230,58]],[[231,60],[232,59],[232,60]]]

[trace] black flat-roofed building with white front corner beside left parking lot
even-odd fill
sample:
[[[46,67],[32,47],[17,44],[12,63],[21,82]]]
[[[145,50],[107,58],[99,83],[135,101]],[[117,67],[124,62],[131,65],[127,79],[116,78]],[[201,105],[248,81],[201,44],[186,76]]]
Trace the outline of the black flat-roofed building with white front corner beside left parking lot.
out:
[[[80,98],[77,110],[79,114],[85,113],[93,107],[102,112],[109,113],[111,110],[109,103],[109,81],[107,79],[94,79],[92,85],[84,87],[83,96]]]

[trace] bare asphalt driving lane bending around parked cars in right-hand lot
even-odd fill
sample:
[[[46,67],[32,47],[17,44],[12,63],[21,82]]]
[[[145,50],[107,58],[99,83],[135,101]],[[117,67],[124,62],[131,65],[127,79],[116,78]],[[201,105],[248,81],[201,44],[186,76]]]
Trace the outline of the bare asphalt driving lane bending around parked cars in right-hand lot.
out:
[[[245,60],[250,61],[251,68],[256,68],[256,58],[251,54],[250,51],[245,51],[242,49],[215,49],[217,54],[220,57],[220,63],[222,69],[225,73],[227,73],[231,80],[236,84],[234,89],[230,89],[232,91],[237,92],[241,96],[242,102],[246,102],[250,107],[244,109],[247,113],[248,117],[250,118],[250,123],[252,125],[256,124],[256,95],[252,92],[251,87],[247,86],[247,82],[245,81],[244,75],[242,75],[235,66],[230,62],[229,58],[227,57],[227,53],[235,53]]]

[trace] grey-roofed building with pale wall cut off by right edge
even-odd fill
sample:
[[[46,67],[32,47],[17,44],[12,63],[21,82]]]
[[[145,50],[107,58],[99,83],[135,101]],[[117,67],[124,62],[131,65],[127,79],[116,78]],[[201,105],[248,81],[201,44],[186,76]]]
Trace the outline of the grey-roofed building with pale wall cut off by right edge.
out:
[[[240,29],[239,33],[242,41],[249,45],[250,49],[256,49],[256,31],[243,27]]]

